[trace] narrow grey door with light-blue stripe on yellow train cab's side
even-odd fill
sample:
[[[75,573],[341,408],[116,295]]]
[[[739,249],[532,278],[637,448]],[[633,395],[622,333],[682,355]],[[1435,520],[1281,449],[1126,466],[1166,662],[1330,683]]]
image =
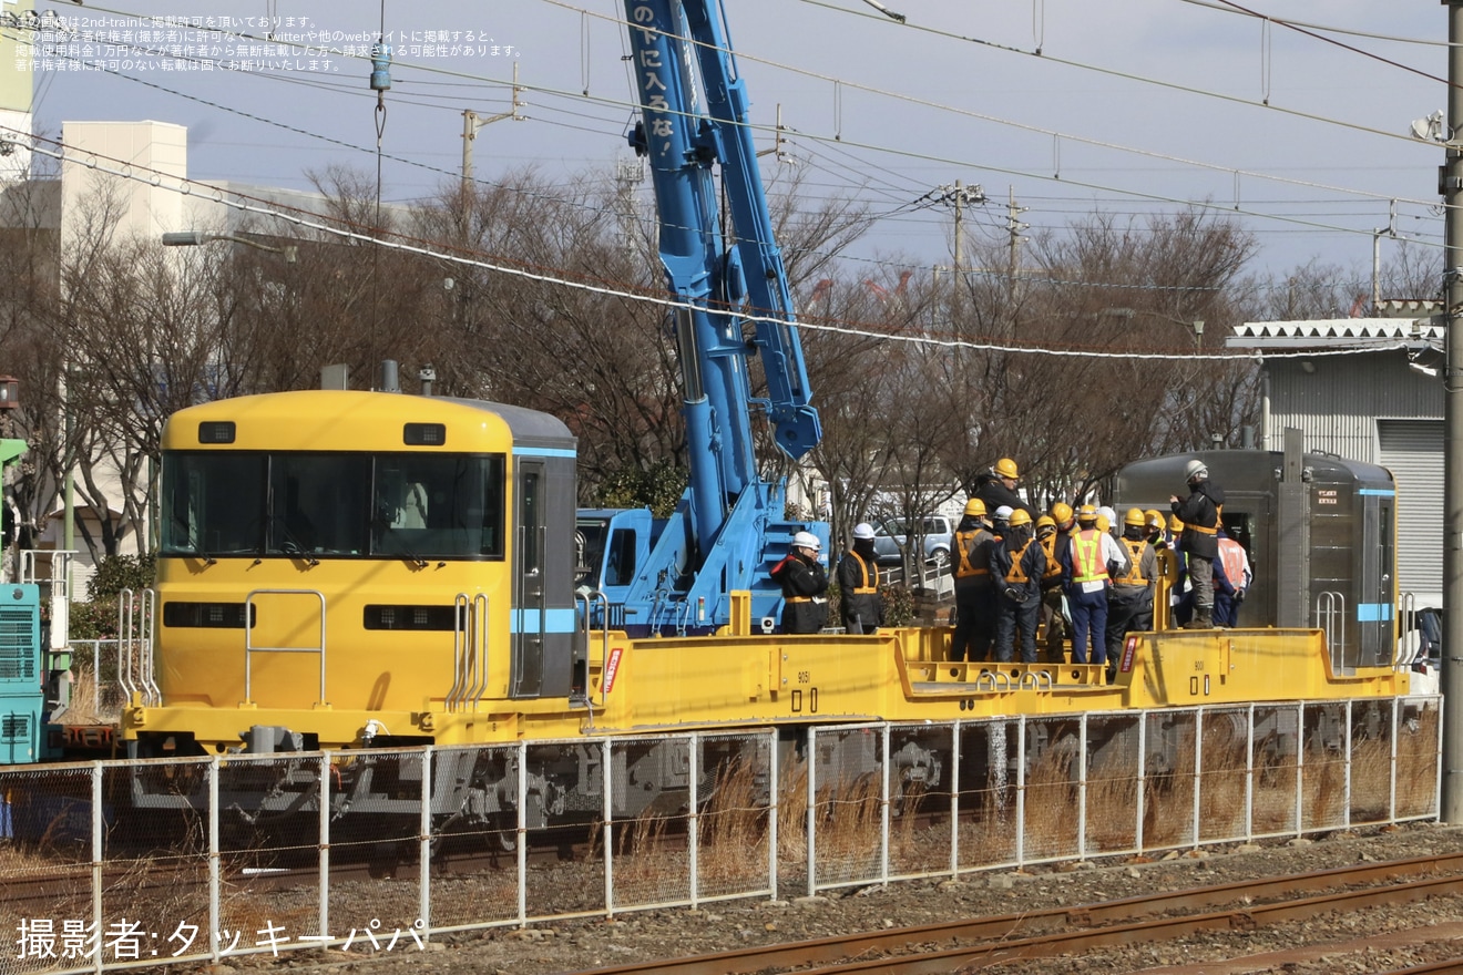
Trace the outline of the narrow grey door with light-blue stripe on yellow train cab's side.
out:
[[[518,460],[516,535],[514,545],[514,612],[511,697],[538,697],[544,672],[544,620],[547,583],[544,572],[544,463]]]

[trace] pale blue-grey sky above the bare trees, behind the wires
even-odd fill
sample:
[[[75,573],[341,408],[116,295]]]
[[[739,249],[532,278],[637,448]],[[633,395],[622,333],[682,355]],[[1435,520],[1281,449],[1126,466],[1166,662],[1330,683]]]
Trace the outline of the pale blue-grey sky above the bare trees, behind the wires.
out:
[[[111,3],[37,7],[105,31],[170,15],[215,26],[230,18],[236,31],[263,35],[263,18],[274,16],[279,34],[326,31],[344,38],[336,45],[385,23],[396,47],[380,139],[385,199],[430,196],[456,177],[462,110],[506,111],[514,64],[527,120],[480,132],[478,178],[537,167],[565,184],[607,180],[629,156],[631,95],[614,23],[622,4],[610,0]],[[1257,234],[1257,270],[1276,273],[1312,259],[1369,268],[1390,199],[1399,199],[1402,234],[1441,240],[1443,153],[1406,132],[1445,105],[1444,4],[1245,7],[1268,23],[1227,3],[1188,0],[888,6],[909,23],[863,0],[726,0],[755,124],[770,130],[781,105],[796,130],[796,162],[767,158],[768,175],[786,180],[796,167],[809,194],[853,194],[887,213],[860,246],[862,260],[948,263],[949,210],[911,208],[957,178],[990,197],[970,224],[986,238],[1004,232],[1014,193],[1028,234],[1094,209],[1127,219],[1213,200]],[[1286,18],[1304,29],[1274,22]],[[199,31],[178,39],[196,41]],[[209,41],[225,48],[221,57],[257,42]],[[380,115],[366,63],[288,50],[262,60],[275,64],[154,64],[121,72],[130,77],[41,72],[38,126],[54,134],[69,118],[186,124],[190,170],[202,180],[303,187],[306,170],[331,164],[375,178]],[[759,142],[772,145],[770,134]]]

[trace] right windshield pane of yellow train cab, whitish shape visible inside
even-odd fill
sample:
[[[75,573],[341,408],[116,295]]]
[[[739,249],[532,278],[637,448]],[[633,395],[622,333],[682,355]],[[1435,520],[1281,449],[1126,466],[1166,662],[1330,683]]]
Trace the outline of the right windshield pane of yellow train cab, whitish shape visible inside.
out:
[[[502,558],[503,455],[375,458],[370,553],[392,558]]]

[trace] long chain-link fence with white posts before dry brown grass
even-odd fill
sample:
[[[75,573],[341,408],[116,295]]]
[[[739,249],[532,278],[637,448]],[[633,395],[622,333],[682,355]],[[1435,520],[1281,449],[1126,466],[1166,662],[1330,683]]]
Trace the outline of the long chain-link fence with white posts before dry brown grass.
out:
[[[0,975],[1435,819],[1438,697],[0,770]]]

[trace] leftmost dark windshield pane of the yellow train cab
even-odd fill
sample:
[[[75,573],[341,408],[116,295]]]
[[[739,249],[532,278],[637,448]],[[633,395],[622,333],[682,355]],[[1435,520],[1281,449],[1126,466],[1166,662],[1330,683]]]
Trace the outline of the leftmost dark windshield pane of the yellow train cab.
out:
[[[162,555],[253,555],[263,541],[262,453],[168,453],[162,463]]]

